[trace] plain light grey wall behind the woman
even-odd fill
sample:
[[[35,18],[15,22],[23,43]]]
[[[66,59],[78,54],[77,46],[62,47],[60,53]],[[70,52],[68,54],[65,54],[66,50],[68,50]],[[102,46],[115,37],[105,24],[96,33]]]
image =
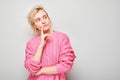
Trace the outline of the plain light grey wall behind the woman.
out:
[[[0,80],[28,77],[26,16],[37,4],[70,37],[77,57],[67,80],[120,80],[120,0],[0,0]]]

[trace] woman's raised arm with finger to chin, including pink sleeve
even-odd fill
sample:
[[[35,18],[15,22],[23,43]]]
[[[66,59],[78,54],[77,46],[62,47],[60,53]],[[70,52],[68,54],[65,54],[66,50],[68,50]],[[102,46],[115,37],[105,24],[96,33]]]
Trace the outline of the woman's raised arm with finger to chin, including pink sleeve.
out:
[[[31,42],[27,43],[24,65],[25,68],[32,74],[38,72],[41,69],[41,56],[44,45],[46,43],[45,38],[47,36],[49,36],[49,34],[43,34],[43,32],[41,33],[41,42],[37,51],[33,49],[33,44],[31,44]]]

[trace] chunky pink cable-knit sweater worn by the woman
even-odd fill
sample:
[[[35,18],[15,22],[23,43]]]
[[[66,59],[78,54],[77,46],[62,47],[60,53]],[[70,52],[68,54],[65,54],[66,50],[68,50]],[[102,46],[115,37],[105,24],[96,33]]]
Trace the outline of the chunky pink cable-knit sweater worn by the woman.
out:
[[[26,45],[24,65],[30,72],[27,80],[65,80],[65,73],[70,71],[76,57],[68,36],[62,32],[55,31],[52,36],[47,39],[41,61],[37,62],[31,60],[31,58],[36,53],[39,44],[40,36],[37,35],[29,40]],[[39,71],[41,67],[53,65],[56,66],[58,74],[32,76],[32,73]]]

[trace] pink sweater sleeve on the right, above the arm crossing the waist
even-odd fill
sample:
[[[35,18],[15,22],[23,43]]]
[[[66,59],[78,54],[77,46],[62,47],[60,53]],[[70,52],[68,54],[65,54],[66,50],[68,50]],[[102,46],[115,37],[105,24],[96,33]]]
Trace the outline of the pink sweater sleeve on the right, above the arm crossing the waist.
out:
[[[58,73],[65,73],[71,70],[75,59],[74,51],[71,47],[69,38],[64,35],[60,42],[60,57],[59,63],[56,65]]]

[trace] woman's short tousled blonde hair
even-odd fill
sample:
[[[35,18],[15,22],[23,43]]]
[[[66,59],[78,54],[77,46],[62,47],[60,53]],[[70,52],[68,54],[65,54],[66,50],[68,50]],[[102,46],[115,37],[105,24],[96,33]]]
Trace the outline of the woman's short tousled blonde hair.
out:
[[[30,10],[30,12],[28,13],[28,16],[27,16],[28,23],[30,24],[30,26],[32,27],[34,32],[38,33],[38,34],[39,34],[39,30],[36,28],[33,18],[35,16],[35,14],[38,13],[39,10],[43,10],[48,16],[48,13],[45,11],[45,9],[44,9],[44,7],[42,5],[37,5],[37,6],[33,7]],[[48,18],[50,19],[49,16],[48,16]]]

